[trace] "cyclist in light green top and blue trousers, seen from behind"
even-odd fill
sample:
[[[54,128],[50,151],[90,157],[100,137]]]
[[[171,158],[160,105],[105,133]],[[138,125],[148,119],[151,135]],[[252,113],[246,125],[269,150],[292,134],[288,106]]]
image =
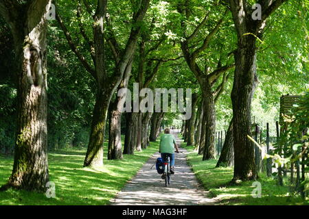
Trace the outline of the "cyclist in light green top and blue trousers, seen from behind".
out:
[[[170,133],[170,129],[167,128],[164,130],[164,134],[161,136],[161,139],[160,139],[159,153],[161,153],[163,162],[165,162],[165,159],[170,157],[170,173],[171,174],[174,174],[174,164],[175,164],[174,149],[176,149],[176,153],[179,153],[176,140],[174,136]]]

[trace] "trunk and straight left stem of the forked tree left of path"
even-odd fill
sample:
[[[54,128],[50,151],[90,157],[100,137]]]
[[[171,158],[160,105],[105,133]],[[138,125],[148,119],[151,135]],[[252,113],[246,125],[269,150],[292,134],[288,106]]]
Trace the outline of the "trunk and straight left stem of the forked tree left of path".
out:
[[[97,25],[93,26],[93,42],[95,47],[95,79],[98,90],[93,108],[93,118],[87,153],[84,158],[84,167],[103,166],[103,144],[108,105],[111,102],[111,96],[114,90],[117,88],[115,86],[104,85],[104,79],[106,79],[104,78],[106,75],[105,42],[103,40],[103,25],[100,23],[100,20],[105,17],[106,3],[107,1],[98,1],[98,8],[94,16],[94,21],[97,23]]]

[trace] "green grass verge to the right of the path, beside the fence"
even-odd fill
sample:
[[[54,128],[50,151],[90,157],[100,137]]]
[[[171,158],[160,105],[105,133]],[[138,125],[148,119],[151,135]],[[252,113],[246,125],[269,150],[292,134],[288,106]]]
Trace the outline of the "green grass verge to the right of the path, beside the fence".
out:
[[[217,160],[202,161],[202,155],[194,151],[193,146],[182,147],[189,151],[188,164],[192,167],[198,181],[211,196],[218,198],[219,205],[308,205],[299,196],[291,196],[288,186],[278,186],[272,177],[260,173],[258,181],[262,185],[262,197],[251,195],[256,188],[253,181],[240,185],[229,185],[233,178],[233,168],[215,168]]]

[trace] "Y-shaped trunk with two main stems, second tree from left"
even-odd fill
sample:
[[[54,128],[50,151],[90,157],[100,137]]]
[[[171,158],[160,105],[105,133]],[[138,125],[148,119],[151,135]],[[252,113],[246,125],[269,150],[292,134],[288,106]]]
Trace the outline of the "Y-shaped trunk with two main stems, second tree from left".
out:
[[[106,5],[106,0],[98,1],[94,16],[95,22],[93,23],[93,42],[95,49],[95,73],[93,76],[98,83],[100,92],[98,92],[97,101],[95,103],[91,135],[84,166],[101,166],[103,164],[104,129],[108,105],[111,101],[111,96],[118,88],[128,66],[130,66],[130,62],[133,60],[136,43],[141,31],[141,25],[133,25],[124,51],[118,54],[119,60],[116,61],[115,72],[113,76],[108,77],[106,75],[104,55],[104,18],[106,15]],[[149,0],[143,0],[136,6],[139,9],[133,13],[134,24],[141,23],[144,20],[144,16],[148,10]]]

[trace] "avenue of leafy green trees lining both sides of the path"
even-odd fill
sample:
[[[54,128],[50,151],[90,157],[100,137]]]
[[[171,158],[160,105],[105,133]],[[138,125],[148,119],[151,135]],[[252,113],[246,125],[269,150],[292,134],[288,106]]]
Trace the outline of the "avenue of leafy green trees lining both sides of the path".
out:
[[[84,146],[80,165],[100,167],[104,153],[123,159],[175,126],[179,113],[119,109],[133,83],[191,88],[192,116],[179,125],[187,145],[233,166],[233,183],[258,179],[253,115],[279,116],[283,94],[308,100],[308,12],[308,0],[1,0],[0,152],[14,153],[1,189],[45,191],[48,150]],[[308,101],[300,108],[286,143],[301,139],[308,155],[308,133],[297,137]]]

